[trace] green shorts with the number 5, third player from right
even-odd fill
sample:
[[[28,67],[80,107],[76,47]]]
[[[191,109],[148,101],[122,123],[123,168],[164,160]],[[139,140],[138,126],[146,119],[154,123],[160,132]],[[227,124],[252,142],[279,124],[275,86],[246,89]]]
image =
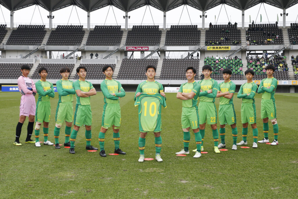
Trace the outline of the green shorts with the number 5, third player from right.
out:
[[[219,120],[219,124],[221,125],[236,124],[236,113],[234,109],[234,104],[219,105],[218,120]]]

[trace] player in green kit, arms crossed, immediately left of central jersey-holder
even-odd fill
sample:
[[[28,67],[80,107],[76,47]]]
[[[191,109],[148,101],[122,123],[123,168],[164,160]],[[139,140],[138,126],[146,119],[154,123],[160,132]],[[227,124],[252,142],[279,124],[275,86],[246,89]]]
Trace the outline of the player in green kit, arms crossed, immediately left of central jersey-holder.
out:
[[[126,153],[119,149],[120,134],[119,127],[121,124],[121,111],[119,99],[125,96],[125,91],[122,88],[120,82],[113,80],[114,69],[111,65],[105,65],[103,67],[103,73],[105,74],[105,80],[100,84],[100,89],[103,92],[103,100],[105,105],[103,106],[103,117],[101,123],[100,133],[98,135],[98,141],[100,146],[100,156],[106,157],[105,154],[105,132],[109,127],[113,127],[113,139],[115,144],[116,154],[125,155]]]

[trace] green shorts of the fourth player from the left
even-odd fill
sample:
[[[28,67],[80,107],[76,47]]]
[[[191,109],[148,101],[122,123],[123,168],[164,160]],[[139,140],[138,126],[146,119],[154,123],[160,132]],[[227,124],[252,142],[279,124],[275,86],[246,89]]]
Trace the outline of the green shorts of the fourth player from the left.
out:
[[[90,105],[78,105],[75,106],[75,118],[74,124],[81,127],[83,124],[91,126],[92,124],[92,112]]]

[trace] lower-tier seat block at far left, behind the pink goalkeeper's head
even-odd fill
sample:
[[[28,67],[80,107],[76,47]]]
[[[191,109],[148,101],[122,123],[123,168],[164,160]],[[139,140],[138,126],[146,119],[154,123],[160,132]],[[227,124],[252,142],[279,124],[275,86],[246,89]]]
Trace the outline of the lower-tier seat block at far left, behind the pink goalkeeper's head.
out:
[[[33,63],[0,63],[0,79],[17,79],[22,75],[20,68],[23,64],[27,64],[30,69],[33,67]]]

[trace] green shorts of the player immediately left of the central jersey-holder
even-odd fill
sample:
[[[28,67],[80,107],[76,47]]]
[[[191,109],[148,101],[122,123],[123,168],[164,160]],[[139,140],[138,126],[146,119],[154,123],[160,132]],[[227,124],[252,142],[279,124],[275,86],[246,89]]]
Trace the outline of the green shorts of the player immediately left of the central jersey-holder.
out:
[[[101,126],[108,129],[111,126],[120,127],[121,124],[121,110],[120,104],[105,103],[103,105],[103,117]]]

